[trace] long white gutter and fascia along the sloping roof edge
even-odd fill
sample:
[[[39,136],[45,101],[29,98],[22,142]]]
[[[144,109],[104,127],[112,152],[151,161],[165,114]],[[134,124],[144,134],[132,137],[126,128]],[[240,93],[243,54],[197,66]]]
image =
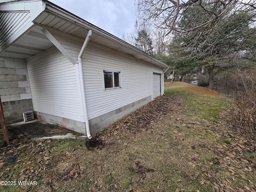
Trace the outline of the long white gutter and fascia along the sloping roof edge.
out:
[[[135,54],[140,54],[142,57],[146,57],[148,59],[150,58],[150,61],[151,61],[150,63],[152,63],[156,66],[159,66],[159,67],[162,67],[162,68],[168,68],[169,67],[168,65],[164,64],[163,62],[160,62],[156,58],[154,58],[154,57],[146,54],[145,52],[139,50],[138,48],[126,43],[125,41],[117,38],[116,36],[113,36],[112,34],[98,28],[97,26],[94,26],[93,24],[90,24],[89,22],[86,22],[82,18],[79,18],[78,16],[75,16],[72,13],[66,12],[65,10],[62,10],[62,9],[54,6],[53,4],[50,4],[50,3],[46,2],[45,12],[55,14],[55,15],[59,16],[60,18],[66,19],[66,20],[68,20],[68,22],[72,22],[74,25],[82,27],[86,30],[92,30],[93,33],[97,33],[101,36],[104,36],[105,38],[108,38],[108,39],[126,47],[126,48],[129,48],[130,50],[133,50],[134,55]],[[34,20],[34,22],[36,22],[36,19]]]

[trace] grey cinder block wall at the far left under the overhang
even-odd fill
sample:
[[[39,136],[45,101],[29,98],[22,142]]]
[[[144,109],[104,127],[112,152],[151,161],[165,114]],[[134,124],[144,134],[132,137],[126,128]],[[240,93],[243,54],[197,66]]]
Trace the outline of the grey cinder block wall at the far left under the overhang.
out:
[[[22,121],[22,113],[33,110],[24,60],[0,57],[0,96],[6,124]]]

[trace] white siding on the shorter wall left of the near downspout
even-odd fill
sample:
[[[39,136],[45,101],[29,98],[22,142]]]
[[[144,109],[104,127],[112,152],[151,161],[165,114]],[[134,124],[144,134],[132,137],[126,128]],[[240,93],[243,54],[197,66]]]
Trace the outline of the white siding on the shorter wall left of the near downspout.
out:
[[[76,71],[57,48],[27,60],[34,110],[81,121]]]

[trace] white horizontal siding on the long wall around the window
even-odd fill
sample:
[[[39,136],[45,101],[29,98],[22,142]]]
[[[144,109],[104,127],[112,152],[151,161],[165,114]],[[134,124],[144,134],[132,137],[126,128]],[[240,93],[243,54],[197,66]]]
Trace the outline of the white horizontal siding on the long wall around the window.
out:
[[[84,40],[51,32],[76,60]],[[120,70],[122,88],[105,90],[103,69]],[[162,68],[89,42],[83,55],[83,72],[88,116],[92,119],[147,96],[153,99],[153,72],[162,73]]]

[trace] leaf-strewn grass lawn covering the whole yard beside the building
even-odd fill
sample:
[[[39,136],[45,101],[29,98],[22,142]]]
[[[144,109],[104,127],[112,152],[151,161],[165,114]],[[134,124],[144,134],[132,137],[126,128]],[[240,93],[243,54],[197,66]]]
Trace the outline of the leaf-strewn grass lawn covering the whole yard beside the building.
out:
[[[206,88],[166,82],[160,96],[86,140],[20,138],[0,149],[6,192],[254,192],[251,140],[232,127],[232,100]],[[250,155],[251,154],[251,155]],[[4,164],[12,156],[14,164]]]

